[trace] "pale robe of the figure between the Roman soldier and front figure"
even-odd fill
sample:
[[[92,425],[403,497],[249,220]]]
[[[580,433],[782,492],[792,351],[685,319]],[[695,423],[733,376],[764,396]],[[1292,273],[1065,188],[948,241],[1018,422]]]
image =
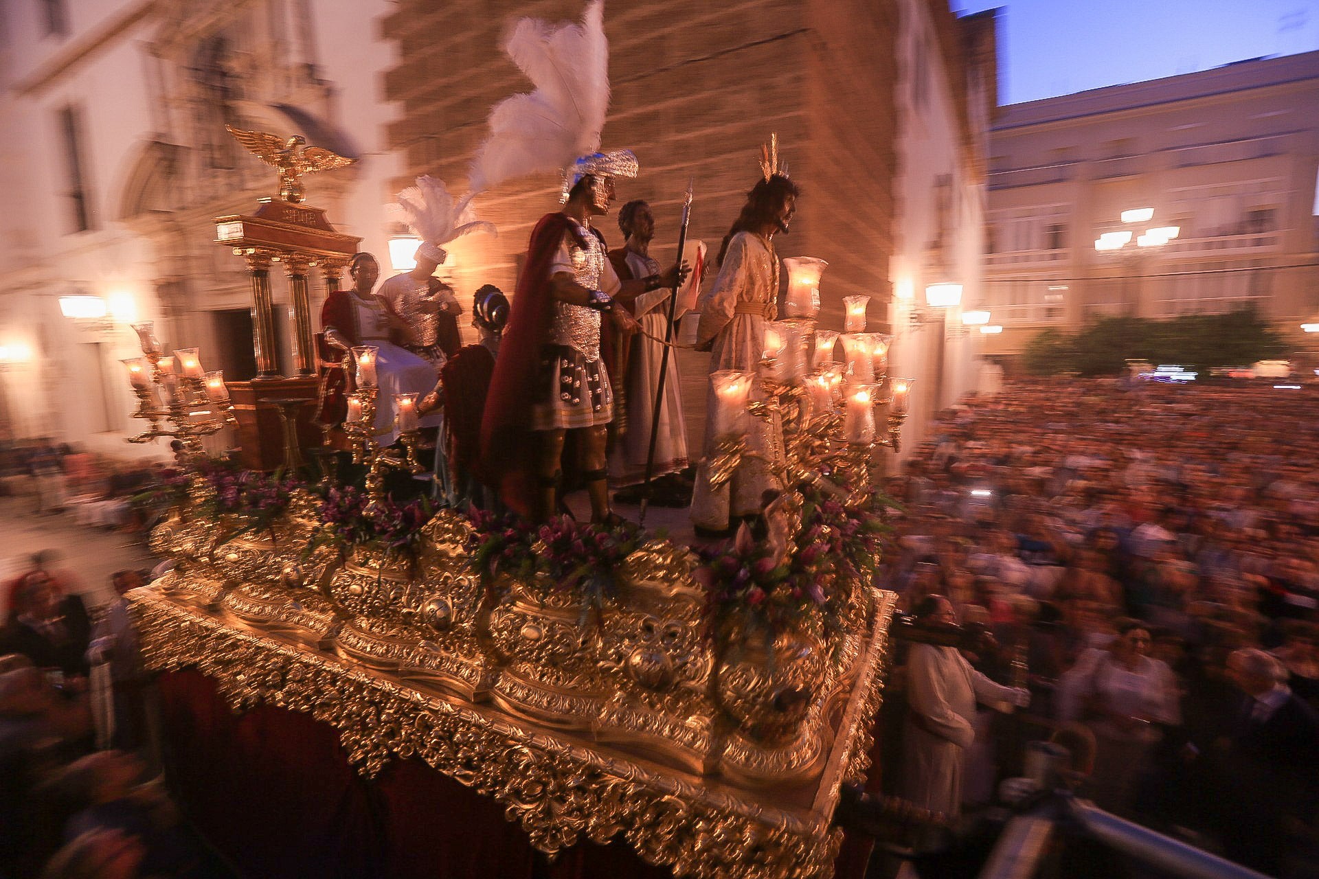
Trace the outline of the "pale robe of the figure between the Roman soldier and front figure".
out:
[[[633,278],[660,274],[660,264],[640,253],[628,250],[628,268]],[[637,323],[642,332],[654,339],[665,337],[669,315],[669,290],[652,290],[636,299]],[[681,318],[675,311],[674,318]],[[633,485],[646,476],[646,456],[650,452],[650,424],[654,420],[656,387],[660,385],[660,358],[663,345],[637,333],[628,353],[628,427],[621,441],[615,445],[609,461],[609,476],[617,485]],[[677,473],[687,467],[687,424],[682,416],[682,386],[678,358],[670,352],[669,372],[663,381],[663,399],[660,401],[660,430],[656,439],[656,464],[652,476]]]

